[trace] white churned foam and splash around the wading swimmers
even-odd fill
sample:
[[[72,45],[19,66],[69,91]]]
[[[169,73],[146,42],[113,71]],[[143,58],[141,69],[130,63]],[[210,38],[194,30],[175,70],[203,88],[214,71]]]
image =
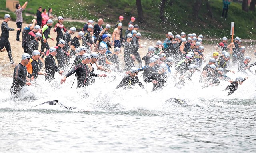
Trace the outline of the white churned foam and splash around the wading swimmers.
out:
[[[174,67],[172,68],[174,72]],[[0,94],[0,107],[12,109],[57,109],[63,110],[58,105],[39,105],[45,101],[57,99],[60,103],[68,107],[76,107],[72,111],[102,111],[102,112],[118,112],[118,111],[173,111],[172,107],[181,107],[176,103],[166,103],[169,98],[178,98],[186,101],[186,105],[190,106],[226,106],[225,101],[236,99],[239,103],[241,99],[255,99],[255,80],[254,75],[248,76],[249,79],[244,81],[238,90],[228,95],[227,91],[223,91],[229,82],[220,81],[217,87],[202,88],[199,83],[200,72],[196,72],[192,76],[192,81],[187,81],[182,89],[174,87],[173,78],[168,79],[168,85],[162,91],[151,92],[152,83],[144,83],[138,73],[140,81],[145,85],[146,91],[138,85],[132,90],[120,90],[115,87],[120,83],[125,74],[108,74],[116,75],[116,79],[109,77],[95,77],[95,82],[88,87],[77,89],[76,79],[72,75],[66,79],[66,83],[60,85],[60,79],[57,73],[56,80],[52,83],[46,83],[44,76],[39,76],[36,83],[32,86],[24,86],[22,91],[16,95],[10,95],[10,86],[12,78],[0,77],[2,84]],[[235,79],[238,74],[227,74]],[[244,74],[241,74],[244,77]],[[75,79],[75,81],[74,81]],[[74,81],[74,85],[72,83]]]

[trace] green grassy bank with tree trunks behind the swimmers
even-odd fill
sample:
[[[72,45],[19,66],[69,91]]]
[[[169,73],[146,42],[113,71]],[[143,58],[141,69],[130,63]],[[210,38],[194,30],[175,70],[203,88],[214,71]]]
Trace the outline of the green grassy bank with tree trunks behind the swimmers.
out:
[[[26,0],[20,0],[23,4]],[[208,0],[212,15],[208,13],[206,7],[206,0],[203,1],[199,11],[198,18],[192,15],[194,1],[176,0],[172,5],[166,4],[164,9],[164,17],[167,23],[159,18],[160,0],[143,0],[142,8],[144,10],[145,22],[140,25],[144,31],[142,35],[148,38],[164,38],[164,33],[173,32],[180,34],[180,32],[195,32],[203,34],[205,38],[222,38],[223,36],[230,36],[230,24],[235,22],[235,36],[242,39],[256,39],[256,12],[244,12],[239,3],[231,2],[228,10],[228,18],[225,21],[220,18],[222,13],[222,0]],[[5,4],[5,0],[0,0],[1,4]],[[127,26],[131,16],[137,17],[136,0],[73,0],[72,2],[66,0],[30,0],[26,8],[26,12],[36,14],[38,6],[43,8],[52,7],[56,16],[62,15],[64,18],[73,19],[93,19],[104,18],[105,21],[114,25],[118,16],[124,16],[123,24]],[[5,5],[1,5],[0,9],[5,9]],[[15,15],[15,14],[14,14]],[[82,28],[83,24],[76,22],[66,22],[66,27],[76,26],[78,29]]]

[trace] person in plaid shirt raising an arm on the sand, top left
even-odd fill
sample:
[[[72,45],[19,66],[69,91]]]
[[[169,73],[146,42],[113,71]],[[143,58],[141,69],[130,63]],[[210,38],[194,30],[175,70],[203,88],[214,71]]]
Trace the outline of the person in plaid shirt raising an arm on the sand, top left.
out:
[[[22,25],[22,22],[23,22],[22,11],[25,10],[27,4],[28,4],[28,2],[25,2],[22,6],[20,4],[16,4],[17,10],[15,11],[15,13],[16,13],[16,16],[17,16],[17,18],[16,18],[17,28],[21,29],[21,25]],[[16,41],[20,41],[20,31],[21,30],[17,31]]]

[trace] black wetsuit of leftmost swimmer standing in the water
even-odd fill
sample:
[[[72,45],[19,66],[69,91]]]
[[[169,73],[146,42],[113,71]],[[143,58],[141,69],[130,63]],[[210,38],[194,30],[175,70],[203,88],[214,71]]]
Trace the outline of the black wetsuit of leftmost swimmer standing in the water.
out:
[[[21,63],[15,66],[11,87],[12,95],[16,95],[16,93],[21,90],[22,86],[26,84],[27,74],[28,72],[26,66],[22,65]]]

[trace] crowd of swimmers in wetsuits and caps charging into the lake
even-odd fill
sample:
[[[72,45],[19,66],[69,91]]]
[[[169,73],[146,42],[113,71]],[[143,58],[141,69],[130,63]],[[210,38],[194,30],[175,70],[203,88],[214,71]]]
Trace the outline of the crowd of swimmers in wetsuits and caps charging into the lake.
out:
[[[88,20],[82,31],[73,38],[72,35],[75,34],[76,28],[66,29],[62,16],[58,17],[58,23],[55,26],[52,19],[48,19],[43,27],[36,25],[36,20],[33,20],[33,23],[22,31],[24,54],[22,54],[20,63],[16,65],[12,60],[8,37],[9,31],[20,29],[9,28],[10,15],[5,14],[1,25],[0,52],[7,50],[11,64],[15,65],[12,95],[18,93],[22,86],[32,85],[31,81],[36,81],[38,75],[44,75],[45,81],[52,82],[56,72],[64,75],[60,80],[61,84],[75,73],[78,88],[92,84],[95,81],[94,77],[108,77],[106,74],[112,71],[126,73],[116,88],[132,89],[138,84],[144,89],[144,83],[140,82],[137,76],[138,72],[143,71],[143,80],[153,83],[153,92],[160,91],[170,77],[174,79],[173,85],[181,89],[186,81],[191,81],[192,75],[197,71],[201,73],[200,82],[204,88],[218,86],[220,80],[229,81],[231,84],[226,87],[229,94],[234,93],[238,85],[242,85],[248,78],[238,76],[233,81],[226,76],[227,72],[254,73],[250,67],[256,63],[249,64],[251,58],[244,56],[246,48],[242,46],[239,37],[236,37],[230,44],[227,44],[228,39],[223,37],[222,42],[216,46],[216,51],[211,54],[212,57],[208,64],[202,66],[206,58],[202,34],[186,35],[181,32],[174,36],[172,32],[167,32],[163,42],[158,40],[154,46],[148,47],[145,56],[141,56],[138,51],[143,46],[140,42],[142,34],[138,32],[139,26],[134,25],[136,19],[131,18],[127,25],[128,29],[124,32],[122,31],[123,19],[123,16],[119,17],[112,34],[108,33],[111,28],[109,24],[106,24],[104,28],[103,19],[98,19],[96,24],[93,20]],[[50,36],[51,27],[54,27],[53,31],[57,32],[56,46],[52,47],[48,44],[48,39],[55,40]],[[82,40],[82,44],[79,40]],[[118,56],[122,51],[124,52],[124,68],[121,68],[120,56]],[[145,62],[144,66],[142,66],[142,60]],[[138,62],[137,68],[134,65],[135,61]],[[172,66],[175,67],[174,72],[171,71]],[[238,66],[238,70],[230,70],[230,66]],[[64,73],[64,70],[68,71]]]

